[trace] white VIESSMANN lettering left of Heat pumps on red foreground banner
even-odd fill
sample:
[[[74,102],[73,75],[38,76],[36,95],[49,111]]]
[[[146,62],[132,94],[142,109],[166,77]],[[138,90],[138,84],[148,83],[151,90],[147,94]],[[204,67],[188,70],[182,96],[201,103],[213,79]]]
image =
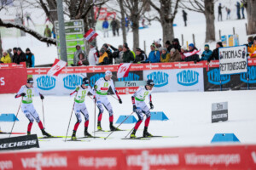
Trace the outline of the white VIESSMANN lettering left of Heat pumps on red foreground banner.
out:
[[[36,168],[41,170],[42,167],[67,167],[66,156],[43,156],[37,154],[32,158],[21,158],[22,166],[24,168]]]

